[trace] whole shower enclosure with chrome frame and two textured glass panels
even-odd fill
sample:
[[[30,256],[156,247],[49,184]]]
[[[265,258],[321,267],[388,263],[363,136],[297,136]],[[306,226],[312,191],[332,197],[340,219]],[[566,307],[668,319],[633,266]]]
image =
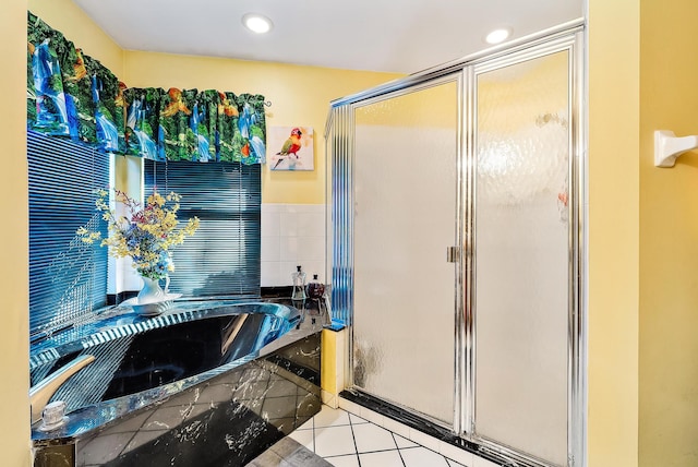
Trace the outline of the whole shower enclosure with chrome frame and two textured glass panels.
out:
[[[350,388],[530,466],[583,465],[582,26],[332,103]]]

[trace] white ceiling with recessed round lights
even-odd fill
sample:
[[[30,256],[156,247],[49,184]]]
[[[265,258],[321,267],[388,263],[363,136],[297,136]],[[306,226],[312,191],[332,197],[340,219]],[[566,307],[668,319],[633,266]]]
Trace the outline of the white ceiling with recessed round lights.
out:
[[[73,0],[122,48],[413,73],[581,17],[583,0]],[[274,22],[266,35],[242,15]]]

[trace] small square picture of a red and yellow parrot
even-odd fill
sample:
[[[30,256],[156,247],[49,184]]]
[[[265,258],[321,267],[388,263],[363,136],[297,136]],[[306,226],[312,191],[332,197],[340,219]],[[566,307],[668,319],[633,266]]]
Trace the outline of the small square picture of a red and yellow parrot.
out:
[[[314,170],[312,127],[270,127],[267,130],[269,170]]]

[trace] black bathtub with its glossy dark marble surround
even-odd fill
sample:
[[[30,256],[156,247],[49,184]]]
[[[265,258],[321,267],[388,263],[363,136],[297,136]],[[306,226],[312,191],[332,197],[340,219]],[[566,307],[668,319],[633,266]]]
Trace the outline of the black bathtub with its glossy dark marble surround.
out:
[[[34,424],[34,465],[243,466],[320,410],[321,331],[281,303],[216,300],[51,336],[32,349],[33,386],[95,360],[51,399],[67,423]]]

